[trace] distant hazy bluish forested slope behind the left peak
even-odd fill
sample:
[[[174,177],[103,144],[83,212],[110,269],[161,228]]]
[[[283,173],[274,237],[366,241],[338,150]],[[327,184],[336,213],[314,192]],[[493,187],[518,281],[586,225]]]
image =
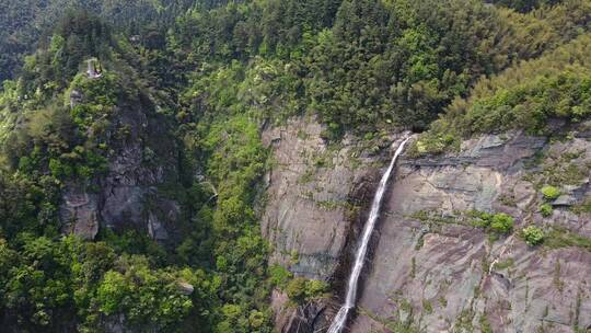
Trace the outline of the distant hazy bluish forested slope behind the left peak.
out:
[[[202,5],[223,4],[225,1],[202,1]],[[25,0],[0,2],[0,81],[10,79],[22,65],[23,56],[33,51],[35,45],[47,43],[53,31],[67,10],[89,10],[111,24],[157,43],[159,26],[194,3],[193,0]],[[161,38],[160,38],[161,39]]]

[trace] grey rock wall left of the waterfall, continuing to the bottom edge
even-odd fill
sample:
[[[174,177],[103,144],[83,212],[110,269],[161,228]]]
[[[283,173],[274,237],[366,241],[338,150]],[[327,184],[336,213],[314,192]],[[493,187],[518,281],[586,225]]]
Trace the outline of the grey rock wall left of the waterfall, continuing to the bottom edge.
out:
[[[314,120],[298,118],[264,131],[276,166],[266,176],[262,230],[274,245],[271,263],[298,276],[326,280],[347,246],[351,216],[371,200],[372,193],[366,190],[379,181],[382,163],[357,152],[358,143],[351,139],[327,147],[322,129]],[[286,295],[274,292],[277,325],[283,331],[318,324],[324,307],[291,309],[286,301]]]

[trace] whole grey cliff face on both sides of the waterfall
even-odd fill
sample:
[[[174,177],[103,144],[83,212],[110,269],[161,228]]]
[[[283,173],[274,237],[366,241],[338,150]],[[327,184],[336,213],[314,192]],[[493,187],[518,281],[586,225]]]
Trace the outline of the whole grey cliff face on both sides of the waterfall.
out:
[[[298,126],[302,128],[302,124]],[[306,131],[316,128],[305,126]],[[322,145],[310,138],[299,141],[294,131],[288,126],[271,136],[277,138],[278,165],[289,168],[276,169],[271,175],[263,228],[277,248],[277,261],[308,277],[328,279],[347,266],[352,245],[347,243],[346,230],[354,228],[352,220],[340,210],[327,214],[298,195],[302,185],[296,180],[309,165],[301,151],[317,150]],[[333,168],[303,188],[328,188],[325,193],[337,198],[355,196],[354,188],[363,176],[379,174],[369,166],[375,158],[362,160],[362,171],[352,173],[340,165],[345,160],[335,160]],[[532,248],[518,231],[534,223],[547,232],[558,228],[565,234],[591,237],[591,217],[571,209],[591,197],[590,161],[591,143],[586,138],[549,143],[520,133],[465,141],[459,153],[403,158],[382,207],[357,315],[348,332],[395,332],[386,328],[396,325],[420,332],[479,332],[485,326],[493,332],[572,332],[576,325],[589,328],[591,251],[583,246]],[[544,183],[557,183],[564,194],[553,203],[551,217],[538,211],[544,199],[536,188]],[[460,218],[473,209],[512,216],[514,232],[491,240],[485,229]],[[420,218],[425,213],[441,218],[425,220]],[[292,249],[304,260],[289,265],[289,257],[281,253]],[[334,306],[320,314],[324,321],[316,319],[317,313],[313,318],[300,313],[305,318],[300,323],[316,324],[293,329],[286,318],[294,314],[286,314],[278,302],[281,297],[285,295],[278,292],[274,297],[274,308],[282,309],[279,331],[323,332],[317,323],[334,315]]]

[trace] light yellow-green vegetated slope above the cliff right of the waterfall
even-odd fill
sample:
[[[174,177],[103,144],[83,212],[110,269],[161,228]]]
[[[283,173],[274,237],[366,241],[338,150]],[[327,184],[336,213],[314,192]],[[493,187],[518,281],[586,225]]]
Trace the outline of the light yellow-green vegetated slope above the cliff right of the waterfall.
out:
[[[552,119],[568,124],[591,117],[591,34],[544,56],[480,80],[467,99],[456,99],[421,136],[417,151],[440,152],[480,133],[524,129],[548,135]]]

